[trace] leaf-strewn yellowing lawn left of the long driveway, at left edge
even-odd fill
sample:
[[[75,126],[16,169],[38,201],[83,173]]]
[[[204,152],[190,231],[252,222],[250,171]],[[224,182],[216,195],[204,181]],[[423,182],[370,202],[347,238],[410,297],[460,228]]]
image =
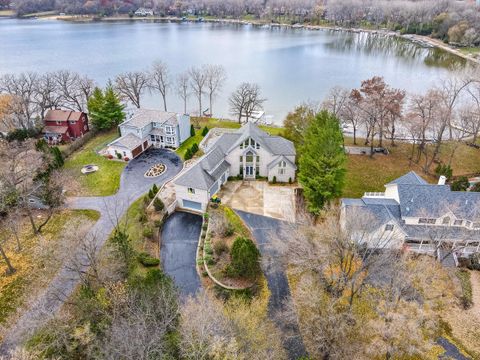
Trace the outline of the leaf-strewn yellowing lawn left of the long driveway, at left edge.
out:
[[[75,240],[68,234],[81,226],[90,227],[99,216],[92,210],[57,212],[44,227],[41,237],[33,236],[28,219],[23,219],[19,232],[21,251],[17,252],[13,235],[4,245],[16,272],[5,276],[6,265],[0,263],[0,324],[9,323],[10,316],[29,300],[28,296],[33,298],[48,285],[71,248],[69,241]]]

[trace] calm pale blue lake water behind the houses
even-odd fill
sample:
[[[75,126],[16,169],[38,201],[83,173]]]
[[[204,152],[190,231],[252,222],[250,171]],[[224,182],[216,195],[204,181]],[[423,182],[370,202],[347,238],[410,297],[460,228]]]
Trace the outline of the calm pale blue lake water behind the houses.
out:
[[[380,75],[395,87],[422,92],[448,76],[447,65],[462,61],[402,39],[332,30],[0,20],[0,74],[70,69],[104,85],[120,72],[147,69],[158,59],[173,74],[222,64],[228,79],[214,104],[215,116],[229,116],[228,97],[238,84],[258,83],[268,99],[265,111],[276,123],[295,105],[322,100],[334,86],[358,87],[361,80]],[[167,104],[169,110],[183,110],[174,91]],[[161,99],[146,94],[142,106],[161,108]],[[193,97],[189,109],[197,109]]]

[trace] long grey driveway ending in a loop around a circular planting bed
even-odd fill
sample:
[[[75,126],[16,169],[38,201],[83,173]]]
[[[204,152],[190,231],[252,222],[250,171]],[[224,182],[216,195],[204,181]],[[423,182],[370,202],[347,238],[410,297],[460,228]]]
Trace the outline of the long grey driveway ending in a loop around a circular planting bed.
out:
[[[156,163],[164,163],[166,171],[156,178],[145,178],[148,168]],[[173,152],[164,149],[149,149],[138,158],[129,162],[120,178],[120,189],[115,195],[106,197],[69,198],[65,206],[70,209],[91,209],[100,212],[100,219],[87,236],[94,241],[98,250],[112,233],[116,221],[120,220],[133,201],[146,193],[155,183],[157,186],[173,178],[182,169],[182,161]],[[197,237],[198,239],[198,237]],[[72,259],[85,259],[81,249],[72,249]],[[193,260],[195,263],[195,260]],[[0,354],[22,343],[29,335],[44,325],[62,307],[79,284],[77,273],[69,270],[66,263],[45,291],[34,299],[17,322],[12,325],[0,346]],[[86,270],[88,266],[85,266]]]

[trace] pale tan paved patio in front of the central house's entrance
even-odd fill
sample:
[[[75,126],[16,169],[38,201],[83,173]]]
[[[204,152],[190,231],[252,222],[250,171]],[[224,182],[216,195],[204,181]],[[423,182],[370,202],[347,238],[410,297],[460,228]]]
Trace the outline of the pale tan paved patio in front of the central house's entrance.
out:
[[[228,181],[218,196],[232,209],[295,222],[295,187],[266,181]]]

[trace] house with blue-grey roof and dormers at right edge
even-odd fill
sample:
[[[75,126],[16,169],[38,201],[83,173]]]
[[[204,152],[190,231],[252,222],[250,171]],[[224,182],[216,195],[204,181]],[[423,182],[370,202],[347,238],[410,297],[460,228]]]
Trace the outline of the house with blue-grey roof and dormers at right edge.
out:
[[[411,171],[386,184],[385,192],[342,199],[344,228],[361,223],[362,218],[368,219],[363,231],[371,235],[362,239],[370,246],[434,256],[453,249],[455,260],[480,251],[480,193],[452,191],[444,177],[438,184],[429,184]],[[358,230],[352,236],[362,241]]]

